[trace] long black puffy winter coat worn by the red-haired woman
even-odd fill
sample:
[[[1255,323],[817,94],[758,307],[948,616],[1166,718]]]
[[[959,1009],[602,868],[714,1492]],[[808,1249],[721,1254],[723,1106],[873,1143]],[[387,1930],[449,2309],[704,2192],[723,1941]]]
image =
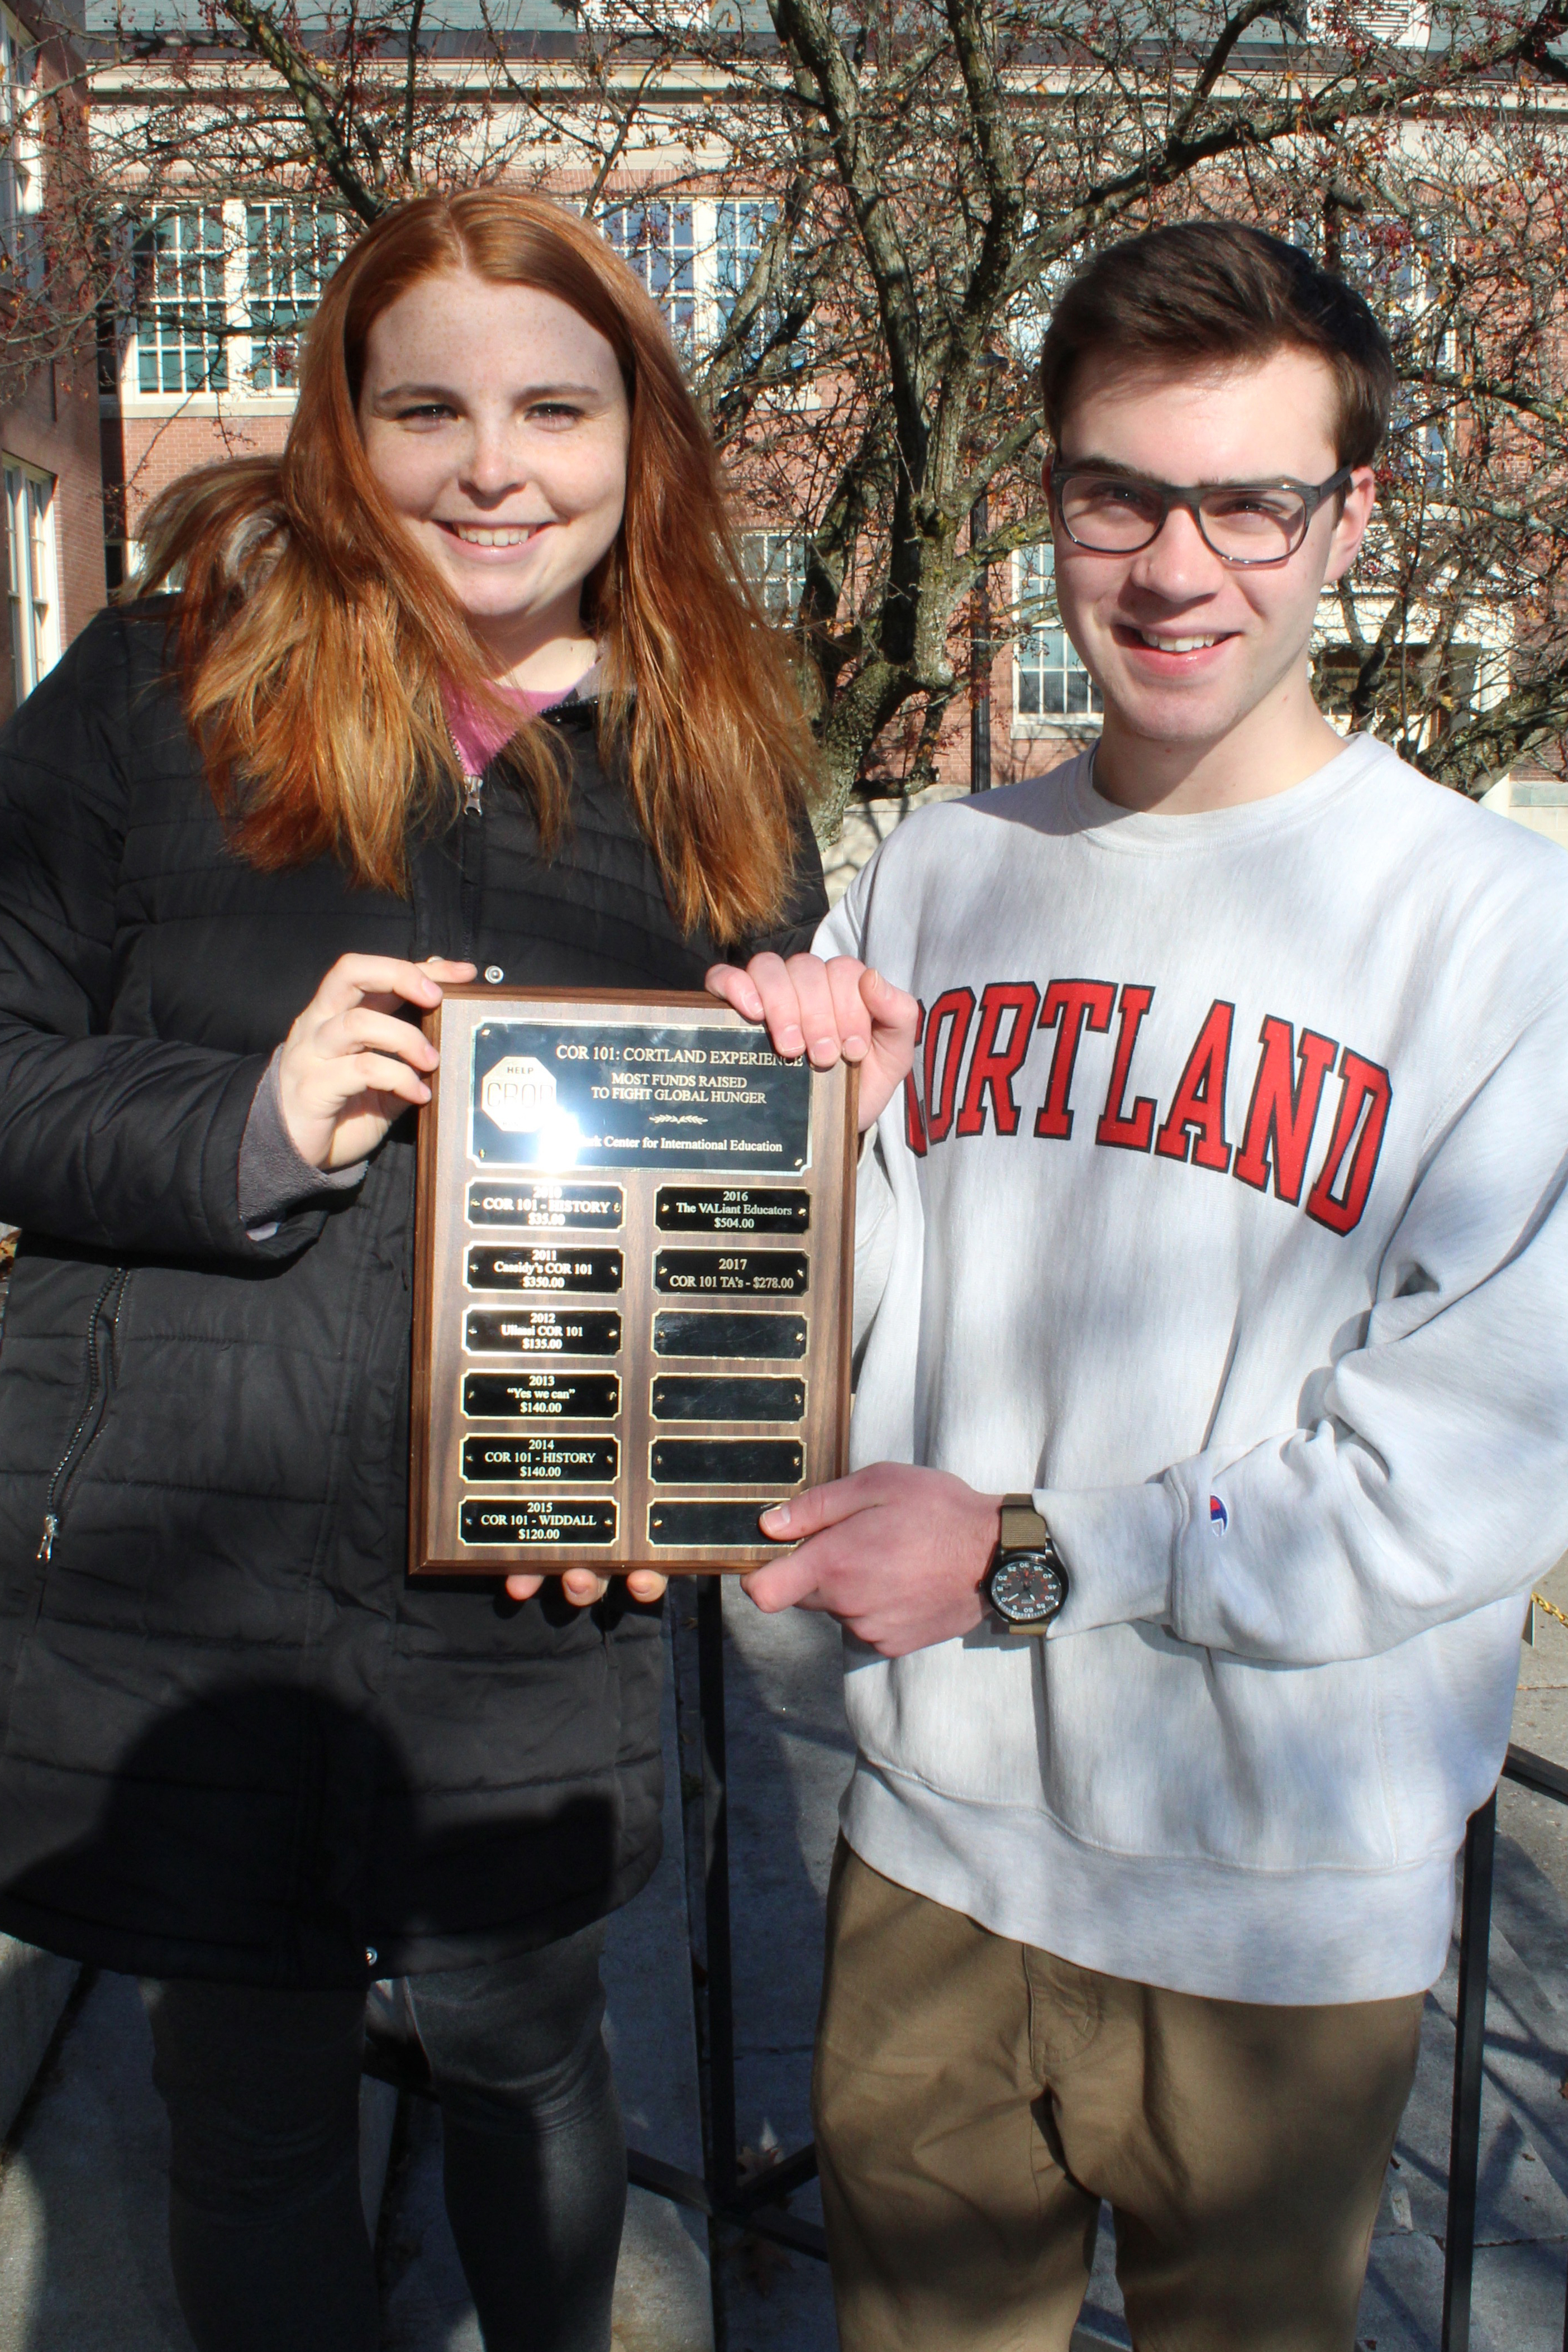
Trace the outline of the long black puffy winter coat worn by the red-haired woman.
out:
[[[153,1976],[350,1985],[527,1950],[658,1860],[658,1611],[404,1576],[414,1122],[270,1240],[237,1214],[273,1047],[346,950],[701,985],[592,706],[574,835],[522,800],[407,901],[230,854],[103,614],[0,736],[0,1929]],[[820,866],[769,941],[809,943]],[[45,1519],[56,1526],[45,1541]]]

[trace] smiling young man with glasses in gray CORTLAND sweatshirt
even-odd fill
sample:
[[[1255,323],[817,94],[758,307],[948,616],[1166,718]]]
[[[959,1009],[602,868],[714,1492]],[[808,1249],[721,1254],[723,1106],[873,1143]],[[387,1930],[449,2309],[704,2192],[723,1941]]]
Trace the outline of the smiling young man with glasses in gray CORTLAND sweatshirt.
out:
[[[1523,1597],[1568,1545],[1568,866],[1309,689],[1394,393],[1194,223],[1044,348],[1093,755],[710,985],[860,1061],[851,1477],[764,1517],[858,1740],[816,2112],[846,2352],[1349,2352]]]

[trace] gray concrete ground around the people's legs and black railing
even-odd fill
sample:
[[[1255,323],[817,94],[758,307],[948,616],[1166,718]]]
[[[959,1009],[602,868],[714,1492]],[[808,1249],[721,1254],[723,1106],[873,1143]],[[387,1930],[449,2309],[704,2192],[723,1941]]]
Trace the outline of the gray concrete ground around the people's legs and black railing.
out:
[[[1542,1588],[1568,1611],[1568,1564]],[[677,1621],[691,1592],[677,1592]],[[736,2089],[741,2140],[759,2157],[809,2133],[806,2084],[820,1976],[820,1907],[837,1797],[849,1771],[837,1637],[820,1618],[759,1618],[726,1597]],[[691,1639],[677,1623],[682,1672]],[[1568,1764],[1568,1628],[1537,1611],[1514,1736]],[[611,2044],[628,2136],[701,2169],[686,1964],[677,1712],[665,1860],[616,1922],[607,1959]],[[1568,2265],[1568,1813],[1505,1785],[1488,2009],[1474,2352],[1556,2352]],[[9,1966],[9,1978],[7,1978]],[[47,1983],[45,1983],[47,1978]],[[12,1992],[7,1992],[7,1983]],[[24,1994],[14,1990],[21,1983]],[[38,2046],[59,1969],[0,1950],[0,2091],[21,2030]],[[1422,2063],[1389,2169],[1356,2343],[1434,2352],[1453,2084],[1450,1966],[1427,2004]],[[19,2025],[21,2020],[21,2025]],[[26,2060],[12,2058],[12,2072]],[[440,2122],[367,2084],[364,2190],[378,2220],[388,2352],[480,2352],[440,2199]],[[190,2352],[165,2258],[162,2112],[148,2079],[136,1987],[78,1987],[0,2159],[0,2352]],[[792,2211],[818,2216],[816,2190]],[[1103,2230],[1081,2352],[1126,2345]],[[818,2263],[708,2234],[632,2192],[616,2296],[618,2352],[835,2352]]]

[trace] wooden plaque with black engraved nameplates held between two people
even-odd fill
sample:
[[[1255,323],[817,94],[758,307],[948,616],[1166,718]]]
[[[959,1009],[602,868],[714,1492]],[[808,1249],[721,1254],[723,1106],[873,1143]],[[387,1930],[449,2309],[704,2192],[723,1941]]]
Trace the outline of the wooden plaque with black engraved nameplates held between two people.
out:
[[[856,1073],[708,995],[449,988],[409,1571],[750,1569],[849,1449]]]

